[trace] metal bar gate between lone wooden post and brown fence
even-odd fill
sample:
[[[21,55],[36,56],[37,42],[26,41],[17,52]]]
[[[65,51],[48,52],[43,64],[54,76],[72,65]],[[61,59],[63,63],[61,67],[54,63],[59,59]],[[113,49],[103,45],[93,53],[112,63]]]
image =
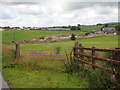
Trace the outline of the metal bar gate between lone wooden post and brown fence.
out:
[[[66,55],[71,52],[72,49],[23,49],[20,50],[21,56],[44,58],[51,60],[66,59]]]

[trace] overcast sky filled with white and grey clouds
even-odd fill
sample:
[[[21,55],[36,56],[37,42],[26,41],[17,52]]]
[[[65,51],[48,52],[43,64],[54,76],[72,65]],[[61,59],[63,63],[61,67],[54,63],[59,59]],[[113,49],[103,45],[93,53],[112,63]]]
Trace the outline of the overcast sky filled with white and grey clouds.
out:
[[[0,26],[92,25],[118,21],[118,2],[4,1],[0,3]]]

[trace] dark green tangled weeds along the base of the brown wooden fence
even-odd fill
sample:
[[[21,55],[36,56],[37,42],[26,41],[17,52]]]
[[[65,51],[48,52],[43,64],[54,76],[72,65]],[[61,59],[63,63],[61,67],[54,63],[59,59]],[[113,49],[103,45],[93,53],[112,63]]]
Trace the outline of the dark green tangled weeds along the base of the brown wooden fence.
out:
[[[113,54],[112,54],[113,55]],[[107,54],[111,58],[111,54]],[[115,82],[114,75],[101,69],[89,68],[89,65],[79,65],[75,57],[72,54],[66,54],[67,62],[65,63],[66,72],[68,74],[76,75],[78,78],[86,78],[89,82],[89,88],[115,88],[117,87],[113,83]],[[112,57],[113,58],[113,57]],[[107,65],[107,64],[106,64]],[[87,69],[85,68],[87,67]],[[109,67],[112,67],[111,65]]]

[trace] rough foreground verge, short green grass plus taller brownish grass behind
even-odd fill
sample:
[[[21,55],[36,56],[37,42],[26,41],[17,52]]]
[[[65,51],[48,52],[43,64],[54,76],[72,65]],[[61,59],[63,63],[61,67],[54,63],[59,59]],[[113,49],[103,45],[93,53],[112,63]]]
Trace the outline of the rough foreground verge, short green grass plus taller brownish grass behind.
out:
[[[11,51],[5,52],[3,75],[12,88],[86,88],[89,85],[85,78],[67,74],[62,60],[31,56],[12,61]]]

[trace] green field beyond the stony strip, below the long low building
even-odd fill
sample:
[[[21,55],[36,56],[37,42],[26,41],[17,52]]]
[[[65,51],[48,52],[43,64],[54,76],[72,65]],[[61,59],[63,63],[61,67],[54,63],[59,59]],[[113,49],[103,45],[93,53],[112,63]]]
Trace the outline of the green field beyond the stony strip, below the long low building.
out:
[[[2,41],[11,42],[14,41],[14,33],[16,35],[16,41],[31,40],[41,37],[54,36],[54,35],[65,35],[65,34],[84,34],[81,31],[4,31],[2,32]]]

